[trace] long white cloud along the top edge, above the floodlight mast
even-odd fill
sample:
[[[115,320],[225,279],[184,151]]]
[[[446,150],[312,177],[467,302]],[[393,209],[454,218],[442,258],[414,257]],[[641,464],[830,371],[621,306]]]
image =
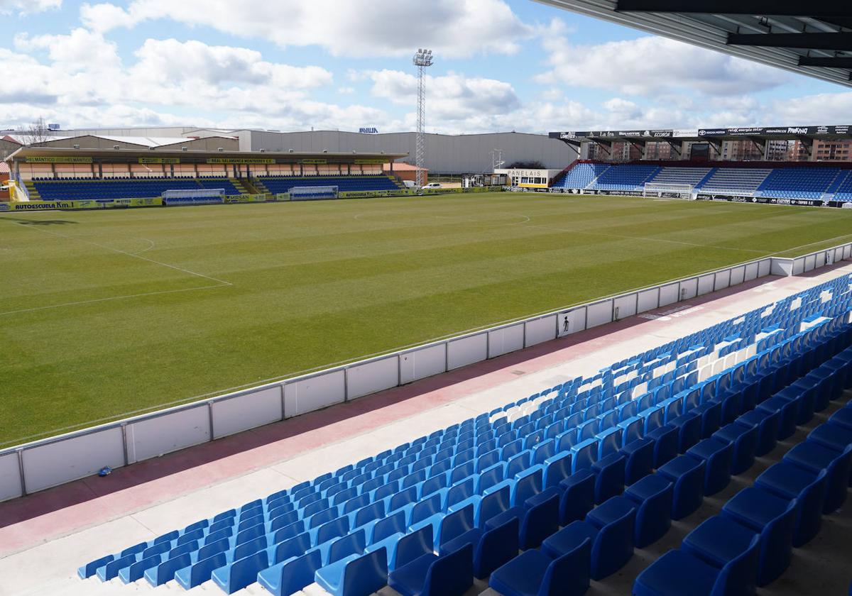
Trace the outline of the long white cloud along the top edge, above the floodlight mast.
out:
[[[321,15],[321,16],[320,16]],[[171,19],[281,47],[319,45],[336,56],[403,56],[426,46],[440,57],[512,54],[533,35],[504,0],[134,0],[83,4],[83,23],[95,31]]]

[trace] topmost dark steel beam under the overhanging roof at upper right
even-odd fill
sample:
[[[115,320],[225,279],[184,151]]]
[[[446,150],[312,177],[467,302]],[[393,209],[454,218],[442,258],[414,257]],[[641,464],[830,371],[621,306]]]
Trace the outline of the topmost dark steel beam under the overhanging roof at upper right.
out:
[[[849,17],[852,6],[839,0],[618,0],[622,12],[759,14],[771,16]]]

